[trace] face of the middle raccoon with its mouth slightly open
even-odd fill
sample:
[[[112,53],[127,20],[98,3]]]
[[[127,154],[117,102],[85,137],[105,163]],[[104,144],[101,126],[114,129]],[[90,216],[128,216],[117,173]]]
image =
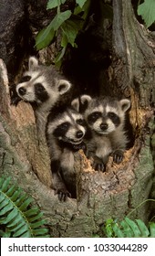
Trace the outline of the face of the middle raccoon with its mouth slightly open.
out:
[[[52,133],[59,141],[81,144],[86,133],[85,121],[78,112],[67,110],[59,114],[54,122],[48,123],[47,133]]]

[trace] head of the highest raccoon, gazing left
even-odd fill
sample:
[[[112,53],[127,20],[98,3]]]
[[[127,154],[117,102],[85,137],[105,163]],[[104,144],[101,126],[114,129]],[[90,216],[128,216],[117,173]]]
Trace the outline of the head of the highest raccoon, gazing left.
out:
[[[51,107],[60,95],[66,93],[71,84],[61,79],[56,70],[38,65],[34,57],[30,57],[29,69],[16,86],[18,96],[24,101],[43,103],[50,100]]]

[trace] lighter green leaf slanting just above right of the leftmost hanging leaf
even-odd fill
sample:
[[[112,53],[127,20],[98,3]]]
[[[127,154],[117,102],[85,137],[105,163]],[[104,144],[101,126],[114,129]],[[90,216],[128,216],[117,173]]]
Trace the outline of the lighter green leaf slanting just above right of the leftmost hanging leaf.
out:
[[[70,16],[71,11],[67,10],[62,13],[57,13],[57,15],[54,17],[54,19],[49,24],[49,27],[53,28],[55,31],[60,27]]]

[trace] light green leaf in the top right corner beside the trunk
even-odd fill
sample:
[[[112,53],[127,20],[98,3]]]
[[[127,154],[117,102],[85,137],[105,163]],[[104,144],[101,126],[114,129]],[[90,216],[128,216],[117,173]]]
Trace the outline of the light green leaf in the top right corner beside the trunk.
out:
[[[155,21],[155,1],[145,0],[144,3],[138,6],[138,15],[142,16],[146,27],[150,27]]]

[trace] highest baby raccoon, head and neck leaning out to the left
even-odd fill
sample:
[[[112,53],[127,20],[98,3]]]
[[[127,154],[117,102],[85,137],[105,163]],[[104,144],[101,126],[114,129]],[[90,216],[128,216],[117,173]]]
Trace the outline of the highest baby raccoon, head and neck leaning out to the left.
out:
[[[71,98],[71,89],[71,83],[53,66],[39,65],[35,57],[30,57],[28,70],[12,91],[11,102],[30,102],[36,114],[37,128],[45,131],[48,113],[55,105],[67,104]]]

